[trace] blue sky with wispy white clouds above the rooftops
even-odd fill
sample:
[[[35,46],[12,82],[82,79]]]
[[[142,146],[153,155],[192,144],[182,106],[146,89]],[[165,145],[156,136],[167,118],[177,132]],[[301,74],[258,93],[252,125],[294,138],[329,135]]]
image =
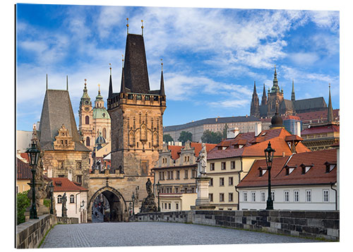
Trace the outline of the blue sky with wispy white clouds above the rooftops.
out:
[[[66,89],[68,75],[76,124],[84,79],[91,100],[100,83],[106,102],[111,63],[119,92],[126,18],[135,34],[143,20],[151,89],[159,89],[163,59],[164,126],[250,114],[253,82],[261,100],[275,65],[286,99],[294,79],[297,100],[328,102],[331,83],[333,107],[340,108],[338,11],[40,4],[17,10],[18,130],[40,120],[46,73],[51,89]]]

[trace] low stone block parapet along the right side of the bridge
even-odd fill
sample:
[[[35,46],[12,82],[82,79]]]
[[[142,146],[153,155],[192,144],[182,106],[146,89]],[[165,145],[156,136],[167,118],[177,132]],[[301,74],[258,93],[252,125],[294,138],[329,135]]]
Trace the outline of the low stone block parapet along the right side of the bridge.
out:
[[[311,239],[340,239],[340,211],[311,210],[191,210],[148,212],[131,216],[130,221],[162,221],[207,224]]]

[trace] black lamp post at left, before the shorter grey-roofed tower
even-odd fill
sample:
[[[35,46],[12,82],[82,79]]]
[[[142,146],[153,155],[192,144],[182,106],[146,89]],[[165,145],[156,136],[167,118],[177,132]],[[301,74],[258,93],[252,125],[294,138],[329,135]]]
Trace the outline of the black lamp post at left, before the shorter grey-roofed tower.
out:
[[[37,148],[37,144],[32,142],[32,146],[26,150],[28,153],[28,159],[30,160],[30,171],[32,172],[32,206],[30,208],[30,219],[38,219],[37,207],[35,205],[35,172],[40,157],[40,150]]]

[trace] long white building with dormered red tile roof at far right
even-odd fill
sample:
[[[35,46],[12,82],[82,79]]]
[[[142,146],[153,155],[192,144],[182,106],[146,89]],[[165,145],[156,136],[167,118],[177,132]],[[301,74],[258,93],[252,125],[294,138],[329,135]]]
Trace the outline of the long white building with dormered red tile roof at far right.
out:
[[[276,150],[277,151],[277,150]],[[268,168],[256,160],[237,185],[239,210],[263,210]],[[271,197],[275,210],[337,210],[336,150],[296,153],[273,160]]]

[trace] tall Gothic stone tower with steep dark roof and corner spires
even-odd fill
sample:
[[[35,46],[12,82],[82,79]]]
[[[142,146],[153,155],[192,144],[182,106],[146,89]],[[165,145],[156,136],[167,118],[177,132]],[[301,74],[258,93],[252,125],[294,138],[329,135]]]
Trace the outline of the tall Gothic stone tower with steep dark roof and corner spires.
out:
[[[112,119],[112,169],[125,176],[147,176],[163,145],[163,113],[166,108],[163,69],[160,90],[150,90],[143,35],[128,34],[120,92],[109,80],[107,108]],[[137,182],[137,181],[136,181]]]

